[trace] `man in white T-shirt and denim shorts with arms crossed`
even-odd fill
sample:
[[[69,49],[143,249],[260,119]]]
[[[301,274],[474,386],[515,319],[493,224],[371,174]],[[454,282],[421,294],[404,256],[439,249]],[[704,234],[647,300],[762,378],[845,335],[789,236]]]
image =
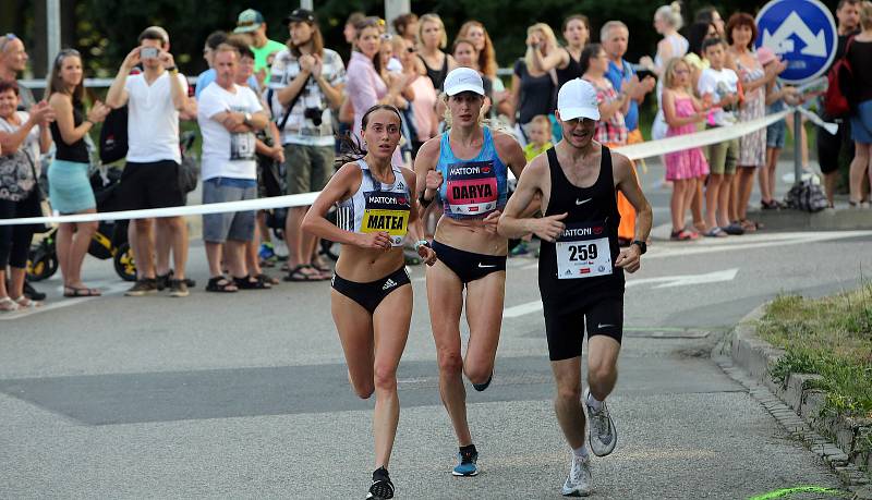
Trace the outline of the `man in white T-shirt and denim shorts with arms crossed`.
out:
[[[254,131],[264,129],[269,119],[257,95],[234,83],[239,60],[237,48],[219,46],[215,53],[215,83],[199,95],[197,123],[203,134],[204,204],[257,197]],[[259,280],[249,276],[245,266],[245,243],[254,236],[254,224],[253,210],[203,216],[203,240],[209,261],[206,291],[264,288]],[[222,260],[232,280],[223,276]]]

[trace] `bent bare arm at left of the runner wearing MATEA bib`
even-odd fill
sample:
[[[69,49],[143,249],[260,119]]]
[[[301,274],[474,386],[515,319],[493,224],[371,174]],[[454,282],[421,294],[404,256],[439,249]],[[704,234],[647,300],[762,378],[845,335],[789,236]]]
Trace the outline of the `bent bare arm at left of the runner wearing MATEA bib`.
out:
[[[337,202],[348,199],[363,180],[360,167],[354,163],[346,163],[320,192],[315,203],[303,218],[303,231],[324,237],[331,242],[343,245],[356,245],[364,248],[390,248],[390,237],[387,232],[358,234],[338,228],[325,218],[327,210]]]

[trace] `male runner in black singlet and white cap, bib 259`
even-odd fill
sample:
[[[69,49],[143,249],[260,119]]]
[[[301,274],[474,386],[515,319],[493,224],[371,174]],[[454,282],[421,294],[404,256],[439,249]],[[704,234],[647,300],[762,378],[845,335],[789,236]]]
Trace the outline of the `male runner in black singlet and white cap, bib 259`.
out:
[[[608,106],[608,105],[604,105]],[[499,220],[504,236],[535,233],[542,239],[538,285],[554,378],[557,420],[572,448],[566,496],[591,492],[581,404],[581,351],[588,331],[588,385],[584,406],[591,420],[591,450],[604,456],[615,449],[617,431],[605,399],[618,378],[623,328],[623,271],[635,272],[651,232],[651,206],[632,173],[630,160],[593,141],[600,108],[596,90],[577,78],[558,94],[562,139],[526,166]],[[620,191],[638,214],[635,239],[618,247]],[[545,216],[521,218],[536,195]],[[584,322],[582,322],[582,320]]]

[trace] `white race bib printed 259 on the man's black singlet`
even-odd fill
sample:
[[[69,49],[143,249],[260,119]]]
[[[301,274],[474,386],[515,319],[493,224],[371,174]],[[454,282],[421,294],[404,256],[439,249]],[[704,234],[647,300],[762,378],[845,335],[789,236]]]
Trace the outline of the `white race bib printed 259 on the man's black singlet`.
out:
[[[554,246],[560,280],[611,275],[611,247],[605,222],[569,223]]]

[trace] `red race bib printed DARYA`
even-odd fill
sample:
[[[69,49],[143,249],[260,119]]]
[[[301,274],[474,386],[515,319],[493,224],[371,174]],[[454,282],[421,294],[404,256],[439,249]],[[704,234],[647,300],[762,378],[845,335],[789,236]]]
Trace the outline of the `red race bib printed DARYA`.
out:
[[[493,161],[448,166],[445,210],[455,216],[486,216],[497,209],[499,192]]]

